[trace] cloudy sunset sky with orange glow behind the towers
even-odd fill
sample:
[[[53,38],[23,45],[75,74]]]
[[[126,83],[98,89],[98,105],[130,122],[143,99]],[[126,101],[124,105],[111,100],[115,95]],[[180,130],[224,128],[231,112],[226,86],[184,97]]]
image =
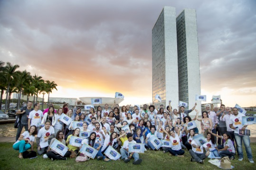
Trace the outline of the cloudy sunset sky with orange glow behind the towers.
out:
[[[152,28],[196,9],[201,94],[256,105],[255,0],[0,0],[0,60],[55,81],[51,97],[152,102]],[[45,97],[47,100],[47,97]]]

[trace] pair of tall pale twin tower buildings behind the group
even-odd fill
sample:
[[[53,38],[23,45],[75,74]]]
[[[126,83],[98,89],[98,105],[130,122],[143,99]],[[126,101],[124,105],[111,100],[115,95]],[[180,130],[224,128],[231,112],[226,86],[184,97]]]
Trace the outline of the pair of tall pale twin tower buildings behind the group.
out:
[[[178,17],[174,7],[164,7],[152,29],[152,98],[178,108],[179,101],[192,108],[200,95],[197,18],[195,9],[184,9]],[[197,101],[196,109],[201,111]]]

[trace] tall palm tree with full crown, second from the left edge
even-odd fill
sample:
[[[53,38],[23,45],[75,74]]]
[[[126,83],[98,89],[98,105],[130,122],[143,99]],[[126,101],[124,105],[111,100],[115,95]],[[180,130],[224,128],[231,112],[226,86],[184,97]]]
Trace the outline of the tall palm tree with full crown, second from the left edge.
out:
[[[18,71],[16,71],[17,68],[19,68],[19,65],[12,65],[11,63],[7,62],[6,66],[4,67],[4,70],[3,70],[4,75],[6,76],[6,79],[7,79],[7,91],[6,91],[4,112],[7,111],[10,82],[14,78],[14,76],[18,73]]]

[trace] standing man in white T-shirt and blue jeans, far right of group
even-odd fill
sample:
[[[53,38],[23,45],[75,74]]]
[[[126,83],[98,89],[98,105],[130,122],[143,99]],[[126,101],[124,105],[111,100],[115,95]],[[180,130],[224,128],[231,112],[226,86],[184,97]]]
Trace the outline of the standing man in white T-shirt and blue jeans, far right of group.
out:
[[[243,141],[246,148],[248,160],[250,163],[254,163],[249,136],[239,135],[239,129],[241,129],[242,131],[245,131],[247,129],[247,125],[245,126],[242,125],[242,117],[245,115],[242,113],[238,113],[238,109],[236,107],[234,107],[232,111],[234,115],[230,117],[229,127],[235,130],[235,139],[237,142],[237,153],[239,157],[238,161],[243,161],[243,158],[244,158],[243,148],[242,148],[242,141]]]

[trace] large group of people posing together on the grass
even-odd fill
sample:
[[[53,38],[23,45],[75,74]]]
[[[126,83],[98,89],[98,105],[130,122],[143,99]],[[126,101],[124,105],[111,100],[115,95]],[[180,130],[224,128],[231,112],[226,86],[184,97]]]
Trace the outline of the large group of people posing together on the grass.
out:
[[[207,157],[228,156],[232,160],[235,158],[236,151],[238,160],[242,161],[243,141],[248,160],[254,163],[249,136],[238,134],[239,129],[247,129],[247,126],[243,126],[241,123],[244,115],[238,113],[237,108],[231,110],[224,104],[221,104],[220,108],[213,108],[212,105],[207,104],[205,111],[201,113],[201,118],[198,116],[199,111],[195,109],[197,104],[187,111],[184,106],[179,107],[178,110],[172,110],[171,102],[166,109],[163,105],[157,109],[154,105],[148,107],[144,104],[142,109],[134,106],[133,110],[130,110],[130,105],[126,105],[122,106],[120,110],[118,104],[113,104],[111,109],[109,109],[108,104],[105,104],[104,109],[98,106],[96,111],[94,108],[90,108],[88,113],[81,113],[81,108],[68,109],[66,104],[57,111],[53,105],[49,105],[44,113],[39,110],[40,104],[34,104],[33,109],[31,106],[32,102],[28,102],[26,107],[17,112],[20,114],[21,122],[17,130],[17,142],[14,143],[13,148],[19,150],[19,158],[22,158],[22,152],[29,148],[33,150],[35,135],[37,135],[38,154],[46,153],[52,161],[66,160],[72,155],[73,157],[83,157],[84,155],[79,153],[81,147],[69,143],[71,136],[79,137],[80,131],[83,131],[90,132],[90,135],[82,143],[98,150],[97,160],[111,161],[107,156],[104,156],[104,151],[108,146],[112,146],[121,152],[125,163],[134,158],[133,164],[140,164],[142,159],[139,158],[139,154],[128,150],[129,142],[133,142],[144,143],[147,150],[161,150],[177,157],[184,157],[185,150],[188,150],[191,155],[190,161],[199,163],[203,163]],[[196,116],[191,119],[189,113],[194,110]],[[62,113],[72,119],[70,124],[66,125],[59,121]],[[86,117],[90,121],[85,122]],[[199,145],[194,140],[194,137],[199,135],[198,128],[189,128],[189,124],[193,120],[201,122],[200,134],[204,135],[207,141],[203,145]],[[74,121],[83,122],[83,127],[73,128]],[[127,127],[126,125],[129,128],[123,130],[123,127]],[[26,132],[20,134],[23,127],[25,127]],[[159,140],[169,141],[171,146],[156,149],[151,140],[155,137]],[[216,137],[218,137],[218,142]],[[62,142],[69,148],[64,156],[51,150],[50,146],[55,140]]]

